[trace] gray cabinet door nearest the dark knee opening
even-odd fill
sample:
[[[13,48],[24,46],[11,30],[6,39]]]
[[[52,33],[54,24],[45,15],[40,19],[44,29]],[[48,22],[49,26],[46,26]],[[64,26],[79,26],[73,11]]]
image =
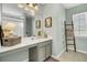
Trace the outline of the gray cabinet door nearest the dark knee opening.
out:
[[[37,61],[42,62],[45,59],[45,46],[37,50]]]

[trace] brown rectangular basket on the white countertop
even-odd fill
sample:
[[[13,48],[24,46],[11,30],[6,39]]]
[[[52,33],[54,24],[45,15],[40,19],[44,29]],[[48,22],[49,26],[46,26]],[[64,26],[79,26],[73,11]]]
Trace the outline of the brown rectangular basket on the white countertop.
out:
[[[4,37],[3,46],[13,46],[21,43],[21,36],[8,36]]]

